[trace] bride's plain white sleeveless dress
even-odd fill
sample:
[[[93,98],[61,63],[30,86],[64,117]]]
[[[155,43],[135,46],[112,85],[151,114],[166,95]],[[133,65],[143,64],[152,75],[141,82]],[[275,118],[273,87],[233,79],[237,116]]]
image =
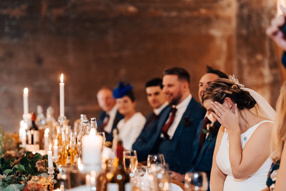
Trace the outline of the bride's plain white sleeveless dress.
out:
[[[244,148],[247,141],[250,139],[252,133],[257,129],[261,123],[271,122],[272,121],[261,121],[253,127],[250,127],[246,132],[241,134],[241,146]],[[270,143],[269,143],[270,144]],[[259,156],[257,156],[259,157]],[[219,169],[227,175],[225,179],[225,184],[223,186],[224,191],[257,191],[266,188],[267,174],[272,164],[270,156],[263,163],[263,165],[253,174],[252,176],[245,179],[235,179],[231,171],[231,164],[229,161],[229,134],[228,130],[225,129],[223,134],[223,139],[221,140],[221,145],[217,153],[217,166]]]

